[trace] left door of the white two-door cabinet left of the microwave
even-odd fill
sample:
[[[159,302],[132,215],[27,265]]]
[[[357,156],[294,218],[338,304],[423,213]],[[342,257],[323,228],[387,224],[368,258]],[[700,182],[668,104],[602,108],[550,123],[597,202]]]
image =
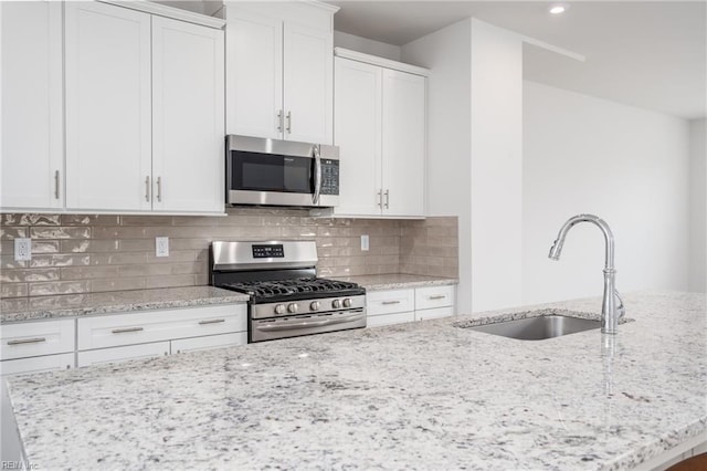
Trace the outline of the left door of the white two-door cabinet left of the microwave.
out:
[[[65,3],[66,206],[150,209],[150,17]]]

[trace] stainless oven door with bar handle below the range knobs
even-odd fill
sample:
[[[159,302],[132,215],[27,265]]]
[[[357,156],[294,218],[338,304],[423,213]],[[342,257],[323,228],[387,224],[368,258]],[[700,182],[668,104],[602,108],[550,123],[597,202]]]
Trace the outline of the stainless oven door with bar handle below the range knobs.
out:
[[[251,318],[249,334],[250,342],[255,343],[360,327],[366,327],[365,307],[287,317]]]

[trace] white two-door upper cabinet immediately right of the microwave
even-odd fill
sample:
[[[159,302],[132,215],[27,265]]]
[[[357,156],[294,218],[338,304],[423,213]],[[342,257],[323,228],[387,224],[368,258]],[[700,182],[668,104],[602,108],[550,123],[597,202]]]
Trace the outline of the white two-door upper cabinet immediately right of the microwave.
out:
[[[341,166],[335,214],[424,217],[428,71],[339,52],[355,59],[335,59],[334,144]]]

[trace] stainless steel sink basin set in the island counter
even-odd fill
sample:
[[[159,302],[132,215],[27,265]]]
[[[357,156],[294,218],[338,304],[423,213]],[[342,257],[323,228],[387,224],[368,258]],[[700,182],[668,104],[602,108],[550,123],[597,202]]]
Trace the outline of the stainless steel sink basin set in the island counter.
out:
[[[599,327],[601,327],[601,321],[555,314],[465,328],[519,341],[542,341]]]

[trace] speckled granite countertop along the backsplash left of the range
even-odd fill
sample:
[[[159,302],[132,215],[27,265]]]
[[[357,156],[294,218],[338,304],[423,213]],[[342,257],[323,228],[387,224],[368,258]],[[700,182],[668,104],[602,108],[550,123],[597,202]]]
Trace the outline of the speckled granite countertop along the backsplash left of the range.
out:
[[[0,322],[4,324],[117,312],[203,306],[246,302],[249,296],[246,294],[213,286],[14,297],[0,302]]]

